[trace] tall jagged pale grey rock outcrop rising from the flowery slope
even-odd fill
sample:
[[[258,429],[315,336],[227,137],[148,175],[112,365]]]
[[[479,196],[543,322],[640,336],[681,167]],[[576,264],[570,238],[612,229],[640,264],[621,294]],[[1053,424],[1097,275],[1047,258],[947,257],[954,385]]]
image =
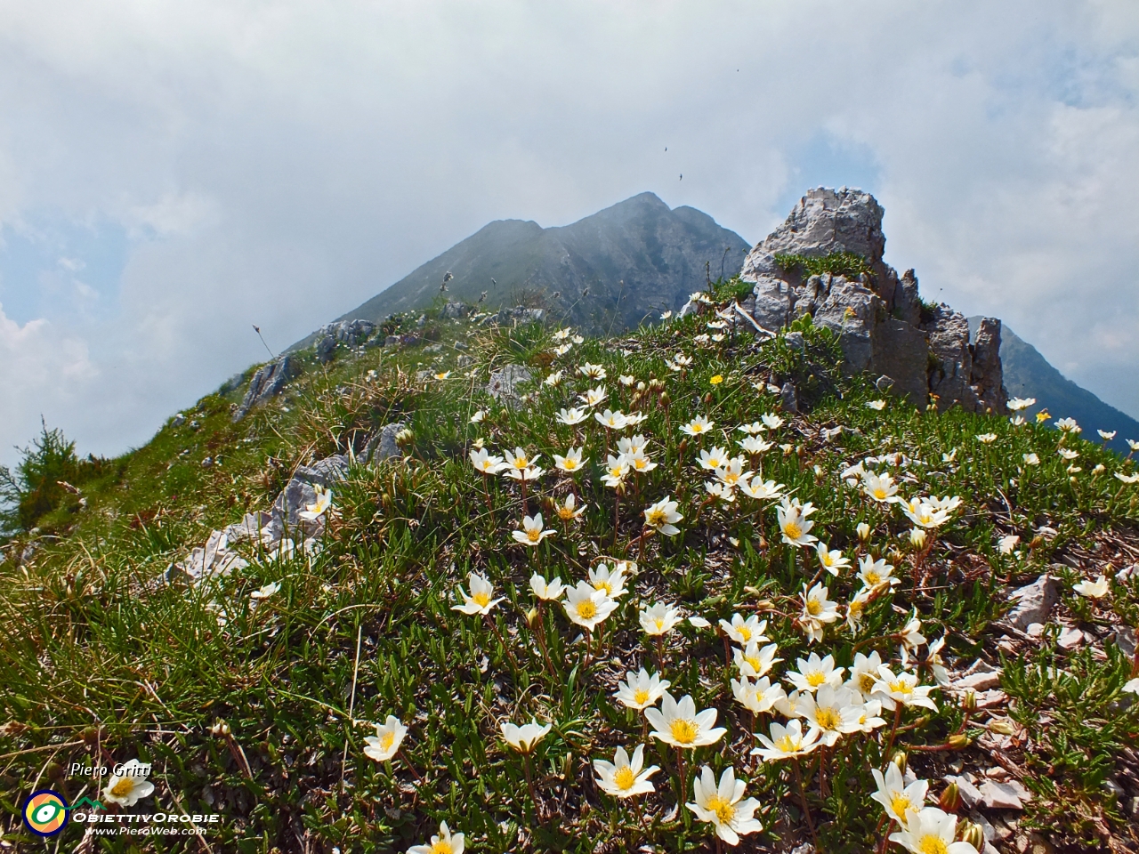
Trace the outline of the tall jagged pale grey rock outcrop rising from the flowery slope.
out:
[[[755,284],[747,310],[772,331],[810,314],[838,334],[849,372],[882,375],[918,407],[935,395],[939,409],[1003,412],[1000,321],[985,318],[970,340],[960,312],[925,305],[913,271],[899,277],[883,261],[882,216],[868,192],[810,190],[745,258],[740,278]],[[803,263],[823,258],[843,272],[811,274]]]

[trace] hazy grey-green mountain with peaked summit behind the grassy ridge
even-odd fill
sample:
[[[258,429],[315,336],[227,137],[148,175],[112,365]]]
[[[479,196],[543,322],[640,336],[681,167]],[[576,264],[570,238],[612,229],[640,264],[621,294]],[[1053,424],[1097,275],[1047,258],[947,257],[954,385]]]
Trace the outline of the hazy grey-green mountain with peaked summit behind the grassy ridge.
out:
[[[424,309],[451,273],[449,299],[477,303],[486,291],[485,307],[533,303],[593,331],[634,327],[700,290],[705,264],[713,279],[735,276],[749,248],[707,214],[642,192],[560,228],[492,222],[338,320]]]

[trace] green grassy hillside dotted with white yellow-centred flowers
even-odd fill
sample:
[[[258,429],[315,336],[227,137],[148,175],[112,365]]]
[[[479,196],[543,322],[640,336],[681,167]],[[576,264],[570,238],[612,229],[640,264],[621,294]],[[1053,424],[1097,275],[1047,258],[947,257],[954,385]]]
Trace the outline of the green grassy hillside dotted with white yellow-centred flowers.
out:
[[[1139,705],[1123,689],[1137,675],[1125,639],[1139,573],[1125,570],[1139,557],[1139,485],[1116,477],[1133,463],[1034,422],[879,400],[838,373],[826,330],[800,321],[800,350],[797,337],[761,344],[724,327],[712,309],[734,287],[699,317],[614,340],[428,320],[419,331],[433,344],[309,364],[237,424],[240,392],[212,395],[113,461],[58,539],[21,560],[21,536],[0,564],[0,843],[44,847],[18,814],[51,788],[71,803],[101,797],[112,815],[221,816],[189,838],[96,835],[73,816],[57,839],[80,851],[407,851],[429,846],[441,821],[475,852],[710,851],[736,831],[740,851],[902,851],[920,840],[871,798],[871,772],[893,762],[928,781],[931,806],[984,821],[1002,851],[1136,849]],[[485,391],[508,363],[535,378],[513,407]],[[788,380],[804,413],[780,410],[771,389]],[[599,386],[604,402],[581,403]],[[584,419],[559,420],[573,407]],[[611,428],[607,409],[642,420]],[[268,509],[298,466],[360,454],[396,421],[402,457],[352,465],[311,548],[246,544],[247,565],[228,575],[165,581],[212,531]],[[607,455],[637,436],[642,473],[606,485]],[[543,471],[480,474],[480,447],[522,449]],[[585,459],[565,471],[555,455],[572,447]],[[736,454],[759,481],[700,465]],[[924,537],[898,501],[877,500],[895,488],[947,500],[915,504]],[[646,512],[654,504],[663,512]],[[524,517],[539,512],[552,534],[530,545]],[[834,572],[808,537],[826,543]],[[618,568],[622,580],[607,575]],[[1051,618],[1039,632],[1003,622],[1008,592],[1044,572],[1059,585]],[[580,591],[543,601],[535,573],[603,592],[582,607]],[[1103,596],[1075,592],[1101,574]],[[487,614],[457,609],[468,599]],[[587,630],[590,610],[607,616]],[[720,621],[736,614],[765,640],[726,633]],[[846,672],[816,679],[801,660],[811,654]],[[862,679],[871,656],[890,668],[877,682]],[[666,698],[647,714],[624,705],[618,682],[640,667],[671,683],[669,697],[714,709],[715,729],[706,715],[661,723]],[[852,673],[859,693],[827,688]],[[902,690],[906,673],[929,690]],[[772,684],[804,689],[794,707],[772,706]],[[367,752],[387,753],[376,724],[388,715],[407,733],[376,759]],[[502,725],[532,720],[549,730],[522,753]],[[802,756],[780,758],[773,726],[788,721],[813,734]],[[673,747],[657,729],[707,744]],[[753,754],[755,733],[773,754]],[[644,746],[658,766],[652,791],[607,794],[592,763],[618,746]],[[108,798],[106,778],[69,773],[132,758],[155,787],[132,806]],[[704,766],[746,780],[744,800],[695,793]],[[974,785],[950,789],[947,774],[1019,790],[1023,810],[972,806]],[[954,826],[943,845],[954,830],[983,846],[981,823]],[[927,851],[945,849],[934,841]]]

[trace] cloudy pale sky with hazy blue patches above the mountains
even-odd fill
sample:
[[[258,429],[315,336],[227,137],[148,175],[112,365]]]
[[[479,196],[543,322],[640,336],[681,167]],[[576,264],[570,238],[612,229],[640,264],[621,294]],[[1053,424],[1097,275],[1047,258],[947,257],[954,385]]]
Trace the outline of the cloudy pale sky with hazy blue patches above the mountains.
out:
[[[1139,417],[1133,0],[0,0],[0,463],[41,417],[138,446],[254,323],[281,350],[491,220],[648,190],[755,243],[819,184]]]

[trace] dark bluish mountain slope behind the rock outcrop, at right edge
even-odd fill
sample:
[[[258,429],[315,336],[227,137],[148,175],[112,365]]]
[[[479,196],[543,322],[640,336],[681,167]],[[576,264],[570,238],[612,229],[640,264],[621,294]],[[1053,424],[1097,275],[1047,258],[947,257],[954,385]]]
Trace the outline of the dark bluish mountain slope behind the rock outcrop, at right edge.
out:
[[[980,320],[969,318],[970,331],[976,330]],[[1097,429],[1116,430],[1109,444],[1123,453],[1130,450],[1125,440],[1139,442],[1139,421],[1065,377],[1008,326],[1001,329],[1000,360],[1009,396],[1036,399],[1030,413],[1047,409],[1054,418],[1074,418],[1083,427],[1084,437],[1092,442],[1099,441]]]

